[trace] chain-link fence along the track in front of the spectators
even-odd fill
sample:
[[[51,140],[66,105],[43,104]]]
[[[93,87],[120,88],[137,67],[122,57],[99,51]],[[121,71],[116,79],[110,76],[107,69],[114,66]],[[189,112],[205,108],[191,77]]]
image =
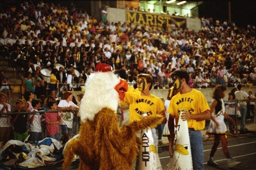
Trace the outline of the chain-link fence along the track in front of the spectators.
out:
[[[248,131],[256,131],[254,105],[250,106],[248,102],[248,105],[244,107],[247,111],[244,111],[239,110],[241,109],[239,102],[238,100],[224,102],[227,114],[236,122],[235,126],[232,126],[228,120],[224,119],[229,135],[240,134],[242,114],[245,114],[245,124]],[[211,102],[208,104],[211,105]],[[72,138],[79,131],[80,118],[77,113],[78,110],[2,113],[0,115],[0,141],[6,143],[9,139],[18,139],[33,142],[51,137],[63,143],[64,134],[68,134],[68,138]],[[117,113],[120,127],[130,122],[129,107],[120,107]],[[204,139],[207,139],[208,125],[209,120],[206,120],[205,129],[201,131]],[[29,138],[27,138],[28,135],[30,135]],[[163,136],[162,142],[168,144],[168,138]]]

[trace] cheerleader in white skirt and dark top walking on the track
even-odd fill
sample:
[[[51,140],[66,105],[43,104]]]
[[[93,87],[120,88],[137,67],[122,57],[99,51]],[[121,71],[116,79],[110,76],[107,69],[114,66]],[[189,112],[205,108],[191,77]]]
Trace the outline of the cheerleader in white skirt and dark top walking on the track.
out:
[[[228,167],[234,167],[239,165],[242,162],[237,162],[232,159],[228,151],[228,143],[226,138],[227,127],[224,122],[224,118],[230,119],[233,125],[235,125],[235,121],[228,116],[225,112],[224,102],[222,100],[223,97],[226,95],[226,87],[225,86],[217,86],[213,92],[213,102],[211,104],[211,121],[209,124],[208,134],[214,135],[214,144],[213,148],[211,149],[211,153],[209,156],[209,160],[207,165],[209,166],[218,166],[218,163],[213,161],[214,153],[216,152],[220,141],[222,143],[222,151],[227,159]]]

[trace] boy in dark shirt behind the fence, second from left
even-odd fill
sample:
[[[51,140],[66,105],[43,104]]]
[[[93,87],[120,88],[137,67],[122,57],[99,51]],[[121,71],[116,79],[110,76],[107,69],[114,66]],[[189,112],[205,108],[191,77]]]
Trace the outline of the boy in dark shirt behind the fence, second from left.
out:
[[[23,101],[21,99],[16,100],[16,110],[17,112],[26,112],[26,110],[22,109]],[[24,142],[24,140],[28,137],[28,128],[27,122],[29,121],[28,114],[12,114],[11,122],[14,126],[14,140],[19,140]]]

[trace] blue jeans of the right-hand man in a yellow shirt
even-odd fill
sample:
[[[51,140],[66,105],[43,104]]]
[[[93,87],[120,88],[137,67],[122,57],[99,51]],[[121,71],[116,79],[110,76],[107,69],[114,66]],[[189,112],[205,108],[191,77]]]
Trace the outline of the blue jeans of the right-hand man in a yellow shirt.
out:
[[[194,170],[204,170],[204,147],[201,131],[189,129],[190,147]]]

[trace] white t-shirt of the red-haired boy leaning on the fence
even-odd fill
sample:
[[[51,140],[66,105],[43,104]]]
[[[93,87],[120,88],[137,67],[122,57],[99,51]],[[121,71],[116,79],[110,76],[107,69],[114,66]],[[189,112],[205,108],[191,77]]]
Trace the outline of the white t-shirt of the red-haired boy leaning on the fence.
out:
[[[69,107],[69,106],[76,106],[72,101],[69,103],[66,100],[61,100],[58,104],[58,107]],[[64,114],[64,116],[61,118],[61,125],[67,125],[67,128],[73,127],[73,113],[72,112],[59,112],[59,114]]]

